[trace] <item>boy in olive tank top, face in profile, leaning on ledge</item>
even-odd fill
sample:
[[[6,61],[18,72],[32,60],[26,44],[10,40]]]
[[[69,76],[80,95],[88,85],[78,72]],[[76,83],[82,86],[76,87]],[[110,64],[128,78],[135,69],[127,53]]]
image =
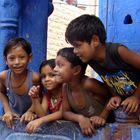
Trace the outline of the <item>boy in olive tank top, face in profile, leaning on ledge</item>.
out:
[[[73,53],[73,48],[60,49],[56,57],[56,80],[66,83],[63,87],[63,117],[79,123],[85,135],[95,132],[94,126],[105,124],[107,90],[104,85],[86,77],[86,64]],[[94,124],[94,125],[93,125]]]

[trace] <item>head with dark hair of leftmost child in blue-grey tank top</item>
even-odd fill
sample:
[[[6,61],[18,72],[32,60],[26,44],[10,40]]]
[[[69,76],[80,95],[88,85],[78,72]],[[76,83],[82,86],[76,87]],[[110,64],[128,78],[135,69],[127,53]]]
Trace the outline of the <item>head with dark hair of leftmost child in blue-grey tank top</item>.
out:
[[[11,39],[6,44],[3,55],[13,72],[23,72],[32,58],[31,45],[23,38]]]

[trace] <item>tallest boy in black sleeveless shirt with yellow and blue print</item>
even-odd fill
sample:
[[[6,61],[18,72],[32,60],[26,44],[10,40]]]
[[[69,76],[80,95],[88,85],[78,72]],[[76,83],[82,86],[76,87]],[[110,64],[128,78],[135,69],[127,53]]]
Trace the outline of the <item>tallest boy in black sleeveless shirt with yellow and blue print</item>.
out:
[[[128,115],[138,112],[140,55],[122,44],[106,43],[104,25],[94,15],[82,15],[71,21],[65,37],[74,46],[74,53],[110,87],[113,97],[108,107],[121,106]],[[136,120],[139,121],[138,117]]]

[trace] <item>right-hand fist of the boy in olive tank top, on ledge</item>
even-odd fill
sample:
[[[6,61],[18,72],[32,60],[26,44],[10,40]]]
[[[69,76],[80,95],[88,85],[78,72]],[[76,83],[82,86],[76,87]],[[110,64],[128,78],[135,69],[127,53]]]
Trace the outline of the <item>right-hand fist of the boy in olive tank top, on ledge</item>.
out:
[[[106,120],[100,116],[92,116],[90,117],[90,121],[93,126],[95,127],[101,127],[105,125]]]

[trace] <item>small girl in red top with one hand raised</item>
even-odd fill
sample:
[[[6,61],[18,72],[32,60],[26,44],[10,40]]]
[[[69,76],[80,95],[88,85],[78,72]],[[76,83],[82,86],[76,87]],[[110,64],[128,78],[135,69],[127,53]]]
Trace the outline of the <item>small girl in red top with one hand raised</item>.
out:
[[[37,96],[40,87],[33,86],[30,89],[29,95],[32,97],[32,106],[39,118],[28,123],[26,127],[28,133],[33,133],[43,123],[55,121],[62,117],[62,84],[55,80],[54,67],[54,59],[42,62],[40,66],[42,85],[47,89],[41,104]],[[46,115],[48,111],[50,114]]]

